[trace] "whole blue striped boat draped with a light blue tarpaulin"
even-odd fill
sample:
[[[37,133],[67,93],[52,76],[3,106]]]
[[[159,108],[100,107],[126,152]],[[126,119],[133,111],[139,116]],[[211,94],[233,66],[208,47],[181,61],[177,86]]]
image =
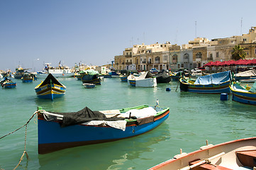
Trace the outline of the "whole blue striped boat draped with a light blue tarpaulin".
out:
[[[230,71],[198,77],[192,81],[185,77],[179,79],[180,90],[199,94],[230,94]]]

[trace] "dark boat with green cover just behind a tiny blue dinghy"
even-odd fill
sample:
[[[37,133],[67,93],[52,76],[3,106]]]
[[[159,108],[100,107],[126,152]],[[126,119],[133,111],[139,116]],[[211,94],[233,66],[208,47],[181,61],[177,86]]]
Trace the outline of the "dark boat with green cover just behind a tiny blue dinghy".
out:
[[[101,79],[99,78],[99,72],[94,69],[83,70],[83,77],[81,78],[83,84],[101,84]]]

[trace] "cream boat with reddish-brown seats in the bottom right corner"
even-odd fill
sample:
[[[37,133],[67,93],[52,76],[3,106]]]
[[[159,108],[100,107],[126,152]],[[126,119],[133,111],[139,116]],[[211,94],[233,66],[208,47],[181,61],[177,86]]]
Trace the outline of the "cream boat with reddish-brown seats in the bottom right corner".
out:
[[[206,145],[199,150],[181,153],[150,170],[253,169],[256,159],[256,137]]]

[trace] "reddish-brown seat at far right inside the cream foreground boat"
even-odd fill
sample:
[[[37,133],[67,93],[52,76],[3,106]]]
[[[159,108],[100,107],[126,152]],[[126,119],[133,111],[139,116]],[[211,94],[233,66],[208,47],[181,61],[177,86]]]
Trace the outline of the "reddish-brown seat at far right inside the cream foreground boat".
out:
[[[237,151],[236,156],[243,166],[256,166],[256,150]]]

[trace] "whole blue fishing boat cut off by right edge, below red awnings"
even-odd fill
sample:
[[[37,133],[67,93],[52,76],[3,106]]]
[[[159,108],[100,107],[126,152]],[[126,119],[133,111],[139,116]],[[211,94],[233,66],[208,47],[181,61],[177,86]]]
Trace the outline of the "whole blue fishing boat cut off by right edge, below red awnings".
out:
[[[240,86],[238,82],[234,82],[230,86],[232,91],[232,100],[240,103],[256,105],[256,83],[250,86]]]

